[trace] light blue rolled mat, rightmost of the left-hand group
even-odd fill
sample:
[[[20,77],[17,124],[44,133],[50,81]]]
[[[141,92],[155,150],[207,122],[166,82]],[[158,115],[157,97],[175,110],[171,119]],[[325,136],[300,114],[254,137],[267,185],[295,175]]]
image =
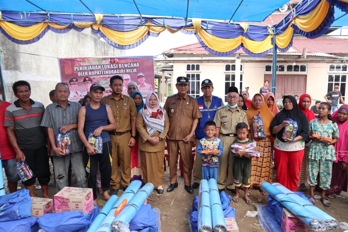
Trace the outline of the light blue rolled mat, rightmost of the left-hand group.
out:
[[[125,222],[129,223],[130,220],[133,219],[152,191],[153,184],[147,183],[127,202],[125,208],[122,209],[111,223],[111,229],[113,232],[120,232],[119,225]]]

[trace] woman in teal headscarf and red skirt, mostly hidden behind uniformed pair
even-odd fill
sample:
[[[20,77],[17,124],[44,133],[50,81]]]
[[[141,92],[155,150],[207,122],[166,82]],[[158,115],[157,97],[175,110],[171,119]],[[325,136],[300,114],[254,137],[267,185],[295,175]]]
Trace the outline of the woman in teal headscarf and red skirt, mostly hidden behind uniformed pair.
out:
[[[133,98],[135,103],[136,112],[139,113],[140,109],[144,107],[143,95],[140,91],[134,91],[130,97]],[[130,181],[142,180],[141,177],[141,157],[139,151],[139,133],[136,133],[135,144],[132,147],[130,153]]]

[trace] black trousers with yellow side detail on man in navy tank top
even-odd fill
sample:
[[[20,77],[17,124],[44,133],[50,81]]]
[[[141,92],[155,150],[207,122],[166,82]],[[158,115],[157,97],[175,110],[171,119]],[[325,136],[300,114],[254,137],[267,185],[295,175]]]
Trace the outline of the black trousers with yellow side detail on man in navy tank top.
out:
[[[86,147],[83,150],[84,165],[86,167],[87,185],[93,190],[93,200],[97,199],[97,168],[99,162],[100,180],[102,190],[111,188],[111,162],[112,154],[111,142],[103,143],[103,153],[89,155]]]

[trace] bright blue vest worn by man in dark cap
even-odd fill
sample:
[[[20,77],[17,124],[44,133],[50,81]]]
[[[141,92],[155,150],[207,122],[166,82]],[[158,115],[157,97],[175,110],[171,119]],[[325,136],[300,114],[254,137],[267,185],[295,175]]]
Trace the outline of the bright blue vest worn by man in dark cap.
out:
[[[217,108],[221,106],[222,99],[220,97],[212,96],[212,104],[210,109],[204,104],[204,96],[197,97],[197,102],[199,110],[202,114],[202,117],[198,119],[198,125],[195,130],[196,139],[200,140],[201,138],[206,137],[204,133],[204,124],[206,121],[213,121]]]

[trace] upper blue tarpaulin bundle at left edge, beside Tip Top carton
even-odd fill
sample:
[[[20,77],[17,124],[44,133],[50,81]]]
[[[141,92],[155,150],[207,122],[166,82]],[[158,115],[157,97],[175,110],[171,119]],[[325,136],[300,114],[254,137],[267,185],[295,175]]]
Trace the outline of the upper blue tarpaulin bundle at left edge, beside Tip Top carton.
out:
[[[15,221],[30,216],[29,190],[23,189],[0,197],[0,222]]]

